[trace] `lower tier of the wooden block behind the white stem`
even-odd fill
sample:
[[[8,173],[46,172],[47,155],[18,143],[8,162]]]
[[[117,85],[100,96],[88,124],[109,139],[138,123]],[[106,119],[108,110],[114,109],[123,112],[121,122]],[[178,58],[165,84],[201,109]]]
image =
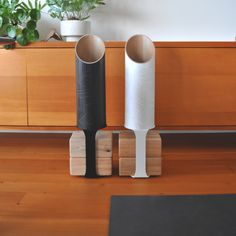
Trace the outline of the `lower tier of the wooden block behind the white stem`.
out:
[[[161,175],[161,157],[147,158],[147,174],[149,176]],[[119,175],[132,176],[135,171],[135,158],[120,158],[119,159]]]

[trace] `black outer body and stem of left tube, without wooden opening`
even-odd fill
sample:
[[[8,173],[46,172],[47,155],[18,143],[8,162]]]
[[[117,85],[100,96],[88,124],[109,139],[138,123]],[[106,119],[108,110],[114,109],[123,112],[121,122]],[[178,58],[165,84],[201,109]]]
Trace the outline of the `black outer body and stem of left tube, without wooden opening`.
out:
[[[96,131],[106,127],[105,54],[95,63],[76,57],[77,126],[86,138],[86,174],[96,174]]]

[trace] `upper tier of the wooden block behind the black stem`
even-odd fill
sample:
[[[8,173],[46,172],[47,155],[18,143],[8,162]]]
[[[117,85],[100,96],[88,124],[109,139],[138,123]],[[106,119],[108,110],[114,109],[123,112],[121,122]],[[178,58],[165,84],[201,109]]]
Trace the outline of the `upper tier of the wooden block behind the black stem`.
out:
[[[112,158],[112,131],[98,131],[96,134],[97,158]],[[70,157],[85,158],[85,135],[83,131],[73,132],[70,138]]]

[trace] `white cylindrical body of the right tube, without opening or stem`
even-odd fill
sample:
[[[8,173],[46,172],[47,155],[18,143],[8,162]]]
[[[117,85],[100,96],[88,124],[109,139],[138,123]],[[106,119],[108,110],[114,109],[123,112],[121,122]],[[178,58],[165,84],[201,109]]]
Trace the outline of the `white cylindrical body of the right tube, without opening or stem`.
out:
[[[128,56],[126,47],[124,125],[132,130],[155,127],[155,50],[148,61],[137,63]]]

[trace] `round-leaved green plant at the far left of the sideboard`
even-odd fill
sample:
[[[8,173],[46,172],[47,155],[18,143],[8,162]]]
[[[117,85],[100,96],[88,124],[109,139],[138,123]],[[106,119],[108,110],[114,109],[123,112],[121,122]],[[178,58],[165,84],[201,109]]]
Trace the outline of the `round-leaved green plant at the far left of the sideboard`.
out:
[[[20,45],[39,39],[37,21],[45,4],[35,0],[0,0],[0,36],[8,36]]]

